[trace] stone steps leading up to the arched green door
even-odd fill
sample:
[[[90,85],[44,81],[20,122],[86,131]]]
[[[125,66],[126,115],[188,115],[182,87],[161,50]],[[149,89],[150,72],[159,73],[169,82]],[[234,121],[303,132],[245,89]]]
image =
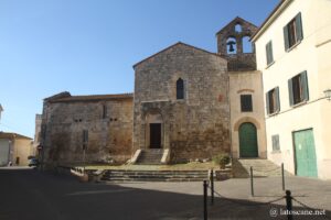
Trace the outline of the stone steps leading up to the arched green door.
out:
[[[235,178],[249,177],[250,166],[253,167],[253,176],[269,177],[281,176],[281,167],[268,160],[263,158],[239,158],[233,160],[232,170]],[[291,174],[285,170],[286,176]]]

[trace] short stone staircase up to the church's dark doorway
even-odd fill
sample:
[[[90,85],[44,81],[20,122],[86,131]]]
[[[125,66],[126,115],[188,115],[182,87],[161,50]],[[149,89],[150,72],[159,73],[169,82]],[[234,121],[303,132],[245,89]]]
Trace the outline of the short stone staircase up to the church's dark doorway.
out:
[[[163,156],[162,148],[146,148],[141,150],[136,164],[140,165],[160,165]]]

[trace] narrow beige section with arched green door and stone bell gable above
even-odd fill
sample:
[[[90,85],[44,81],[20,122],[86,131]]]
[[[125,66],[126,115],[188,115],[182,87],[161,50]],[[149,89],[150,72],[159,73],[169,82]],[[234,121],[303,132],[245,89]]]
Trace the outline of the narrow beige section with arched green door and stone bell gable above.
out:
[[[256,30],[237,16],[216,33],[218,54],[228,61],[233,158],[266,158],[261,73],[249,42]]]

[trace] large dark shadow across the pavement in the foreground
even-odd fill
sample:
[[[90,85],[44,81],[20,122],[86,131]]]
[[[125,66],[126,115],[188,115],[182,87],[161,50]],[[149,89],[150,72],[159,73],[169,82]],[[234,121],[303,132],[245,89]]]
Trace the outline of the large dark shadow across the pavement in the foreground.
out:
[[[0,195],[1,220],[203,219],[202,195],[83,184],[72,176],[31,169],[0,170]],[[209,206],[209,219],[287,219],[279,213],[285,210],[281,205],[285,199],[279,202],[261,205],[215,197],[214,206]],[[270,217],[270,210],[278,216]],[[330,210],[327,213],[331,216]],[[325,219],[325,216],[293,219]]]

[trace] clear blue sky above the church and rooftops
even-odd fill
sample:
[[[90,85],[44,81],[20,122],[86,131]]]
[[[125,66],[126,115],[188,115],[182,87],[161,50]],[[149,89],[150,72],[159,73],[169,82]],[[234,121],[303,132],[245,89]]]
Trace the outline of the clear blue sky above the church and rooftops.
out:
[[[134,91],[132,65],[179,41],[216,52],[235,16],[279,0],[0,0],[0,131],[33,138],[43,99]]]

